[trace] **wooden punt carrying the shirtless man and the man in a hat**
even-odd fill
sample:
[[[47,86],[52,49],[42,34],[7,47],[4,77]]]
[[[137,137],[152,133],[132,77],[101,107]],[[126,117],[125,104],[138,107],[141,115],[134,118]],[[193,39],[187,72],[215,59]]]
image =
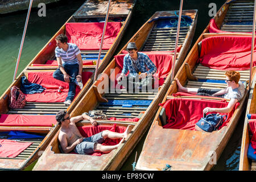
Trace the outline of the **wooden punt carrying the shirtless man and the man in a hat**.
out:
[[[177,62],[183,61],[184,56],[188,51],[189,44],[191,44],[192,37],[195,32],[197,10],[184,10],[183,15],[191,17],[192,23],[189,27],[182,27],[185,29],[185,32],[184,35],[180,35],[181,40],[179,45],[182,45],[182,47],[180,49],[179,56],[177,57]],[[170,34],[170,32],[175,32],[176,28],[162,28],[163,30],[159,30],[159,28],[156,26],[158,22],[157,19],[164,16],[165,18],[167,18],[166,16],[175,16],[175,11],[156,12],[138,30],[138,32],[129,40],[129,42],[135,42],[139,51],[148,51],[149,53],[154,51],[156,54],[162,53],[162,55],[170,55],[169,51],[174,49],[174,47],[170,46],[170,44],[175,42],[174,40],[176,34],[168,34]],[[152,19],[155,20],[150,22]],[[166,34],[160,36],[158,35],[163,34],[163,32],[166,32]],[[145,45],[154,42],[154,40],[155,42],[161,42],[159,39],[162,39],[162,36],[166,37],[167,35],[168,39],[166,42],[168,43],[158,44],[158,46],[153,45],[150,47],[150,49],[146,49]],[[125,50],[127,44],[121,49],[117,56],[122,55],[121,53],[123,50]],[[166,48],[166,46],[168,47]],[[40,157],[38,160],[38,163],[36,163],[33,170],[117,170],[125,162],[149,126],[151,119],[158,108],[158,104],[162,100],[166,89],[168,88],[168,83],[170,83],[171,79],[171,69],[169,70],[168,76],[163,85],[155,93],[128,93],[123,89],[111,92],[113,89],[109,88],[109,85],[105,85],[105,92],[100,93],[100,90],[98,90],[98,88],[101,87],[100,85],[105,84],[105,82],[109,82],[109,77],[111,77],[110,75],[114,77],[117,76],[117,72],[114,71],[119,69],[116,59],[117,57],[115,57],[108,67],[106,67],[106,69],[102,72],[103,74],[101,77],[94,82],[88,92],[86,92],[86,94],[76,105],[75,109],[71,111],[70,115],[71,117],[74,117],[84,113],[85,111],[88,112],[89,110],[97,109],[102,110],[108,116],[108,118],[116,118],[115,121],[97,120],[100,125],[113,125],[114,123],[117,126],[132,125],[133,130],[125,140],[125,143],[123,143],[117,150],[113,150],[109,154],[104,154],[97,158],[90,155],[61,154],[59,148],[57,147],[59,146],[59,142],[57,140],[58,135],[56,134],[51,140],[51,143],[49,143],[49,146],[46,148],[46,151],[44,151],[42,157]],[[168,59],[168,62],[170,62],[170,59]],[[110,93],[107,93],[106,91],[110,91]],[[114,102],[123,103],[122,101],[133,101],[134,103],[131,107],[122,107],[122,104],[120,106],[118,103],[117,105],[113,104]],[[137,118],[138,122],[129,120],[131,118]],[[84,125],[84,122],[78,123],[77,125]]]

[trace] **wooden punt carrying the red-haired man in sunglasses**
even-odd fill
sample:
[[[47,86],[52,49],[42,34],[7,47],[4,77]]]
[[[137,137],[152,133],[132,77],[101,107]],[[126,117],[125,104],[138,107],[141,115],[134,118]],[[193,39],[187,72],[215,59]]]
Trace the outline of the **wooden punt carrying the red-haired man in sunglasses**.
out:
[[[181,85],[190,88],[225,88],[225,71],[205,67],[199,64],[197,61],[199,60],[199,50],[201,49],[199,43],[203,39],[226,35],[228,34],[202,34],[199,39],[197,39],[197,42],[188,53],[183,65],[177,72],[174,81],[172,81],[172,84],[168,89],[166,96],[164,96],[162,103],[174,100],[175,98],[185,101],[200,101],[201,98],[204,98],[207,99],[207,104],[212,101],[220,100],[220,98],[217,97],[203,96],[181,95],[175,97],[172,96],[172,94],[177,93],[176,78],[179,79]],[[246,35],[241,34],[240,36]],[[249,80],[250,69],[240,71],[240,73],[241,81],[245,82]],[[201,81],[199,81],[199,79]],[[208,79],[222,80],[222,83],[209,83],[207,82]],[[248,86],[245,91],[245,96],[240,101],[240,105],[234,111],[228,125],[222,127],[218,131],[213,131],[212,133],[195,131],[193,129],[179,129],[178,127],[176,129],[164,129],[161,119],[164,121],[164,116],[166,115],[163,114],[163,107],[160,106],[155,115],[154,121],[152,122],[150,130],[148,131],[135,169],[163,170],[166,168],[166,164],[170,165],[170,168],[168,168],[169,170],[174,171],[209,170],[212,168],[214,164],[216,164],[217,159],[220,157],[221,152],[224,150],[237,125],[238,119],[240,118],[243,108],[245,107],[247,93]],[[226,101],[228,102],[229,100]],[[189,106],[189,104],[187,105]],[[195,110],[193,112],[195,112]],[[191,114],[193,114],[193,112],[191,111]],[[188,117],[192,118],[192,115],[191,117]],[[200,117],[203,117],[203,113],[199,116],[199,118],[197,117],[197,121],[200,119]],[[195,123],[191,126],[195,126]],[[161,150],[159,150],[159,148],[161,148]]]

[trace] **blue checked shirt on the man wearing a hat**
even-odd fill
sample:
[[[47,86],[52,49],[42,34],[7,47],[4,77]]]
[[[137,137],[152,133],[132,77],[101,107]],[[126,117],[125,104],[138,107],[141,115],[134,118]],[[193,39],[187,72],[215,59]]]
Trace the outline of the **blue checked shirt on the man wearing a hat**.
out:
[[[155,64],[150,60],[150,58],[146,54],[142,52],[137,52],[137,55],[138,55],[138,59],[137,61],[135,61],[134,64],[137,65],[137,68],[139,69],[139,71],[141,73],[147,73],[147,74],[153,75],[157,71]],[[136,77],[138,75],[138,73],[136,72],[133,66],[133,62],[129,54],[123,57],[122,73],[126,74],[128,71],[130,76]]]

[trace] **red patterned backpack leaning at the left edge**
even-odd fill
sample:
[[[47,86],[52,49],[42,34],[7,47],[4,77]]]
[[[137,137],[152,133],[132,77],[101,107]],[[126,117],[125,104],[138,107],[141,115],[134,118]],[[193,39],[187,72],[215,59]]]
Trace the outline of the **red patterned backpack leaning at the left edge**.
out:
[[[26,96],[16,86],[11,87],[9,97],[9,107],[11,109],[20,109],[26,105]]]

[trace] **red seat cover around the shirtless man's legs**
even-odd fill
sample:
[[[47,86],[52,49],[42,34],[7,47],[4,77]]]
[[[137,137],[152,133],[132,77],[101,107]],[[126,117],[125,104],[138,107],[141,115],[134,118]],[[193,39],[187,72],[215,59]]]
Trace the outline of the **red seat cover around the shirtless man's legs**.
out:
[[[97,126],[80,126],[78,127],[82,137],[90,137],[94,134],[100,133],[101,131],[104,130],[109,130],[117,133],[123,133],[126,130],[126,127],[124,126],[117,126],[114,124],[113,126],[108,126],[108,125],[97,125]],[[114,146],[115,144],[118,144],[121,141],[121,139],[110,139],[106,138],[104,143],[101,143],[104,146]],[[103,152],[94,152],[94,156],[101,156],[104,154]]]

